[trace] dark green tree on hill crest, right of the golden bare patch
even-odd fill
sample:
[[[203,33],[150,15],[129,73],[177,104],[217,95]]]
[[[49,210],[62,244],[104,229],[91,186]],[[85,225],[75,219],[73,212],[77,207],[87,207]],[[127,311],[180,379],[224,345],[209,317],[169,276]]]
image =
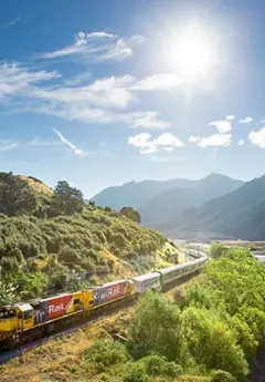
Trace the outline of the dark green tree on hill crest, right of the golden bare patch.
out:
[[[71,187],[66,180],[60,180],[52,197],[52,215],[72,215],[81,213],[84,206],[83,194]]]

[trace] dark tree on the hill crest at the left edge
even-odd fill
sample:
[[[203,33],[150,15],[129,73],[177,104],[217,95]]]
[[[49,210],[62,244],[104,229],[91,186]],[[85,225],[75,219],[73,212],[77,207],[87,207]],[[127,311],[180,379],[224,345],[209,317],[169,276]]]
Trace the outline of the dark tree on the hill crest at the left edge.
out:
[[[12,173],[0,173],[0,214],[31,214],[35,207],[35,195],[25,180]]]

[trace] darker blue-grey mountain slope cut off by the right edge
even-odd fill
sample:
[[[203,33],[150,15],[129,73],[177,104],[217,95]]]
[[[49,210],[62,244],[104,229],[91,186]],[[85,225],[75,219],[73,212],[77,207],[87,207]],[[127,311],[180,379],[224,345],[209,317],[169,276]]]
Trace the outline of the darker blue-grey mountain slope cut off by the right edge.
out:
[[[212,235],[247,240],[265,239],[265,175],[200,207],[171,235]]]

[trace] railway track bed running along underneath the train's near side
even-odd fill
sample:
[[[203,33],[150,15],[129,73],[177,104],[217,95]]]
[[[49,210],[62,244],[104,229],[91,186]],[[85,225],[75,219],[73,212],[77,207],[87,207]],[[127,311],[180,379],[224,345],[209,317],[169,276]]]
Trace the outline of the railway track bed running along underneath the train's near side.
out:
[[[194,273],[192,275],[188,275],[188,276],[183,276],[182,278],[173,281],[171,285],[168,285],[167,288],[163,289],[163,292],[167,292],[182,283],[186,283],[187,281],[189,281],[190,279],[192,279],[194,276],[198,275],[199,271],[194,271]],[[108,307],[108,310],[99,310],[95,311],[93,316],[91,316],[91,318],[88,318],[85,322],[82,322],[80,324],[75,324],[66,330],[62,330],[60,332],[46,335],[40,340],[26,343],[24,345],[21,345],[19,348],[12,349],[12,350],[8,350],[8,351],[3,351],[0,353],[0,364],[4,364],[6,362],[14,359],[14,358],[20,358],[23,357],[23,354],[25,354],[26,352],[40,348],[43,344],[47,343],[49,341],[52,340],[56,340],[66,335],[70,335],[74,332],[76,332],[77,330],[84,329],[86,328],[89,323],[97,321],[98,317],[107,317],[110,316],[115,312],[128,309],[129,307],[132,307],[137,301],[136,297],[130,297],[130,298],[125,298],[123,300],[119,301],[114,301],[113,306]]]

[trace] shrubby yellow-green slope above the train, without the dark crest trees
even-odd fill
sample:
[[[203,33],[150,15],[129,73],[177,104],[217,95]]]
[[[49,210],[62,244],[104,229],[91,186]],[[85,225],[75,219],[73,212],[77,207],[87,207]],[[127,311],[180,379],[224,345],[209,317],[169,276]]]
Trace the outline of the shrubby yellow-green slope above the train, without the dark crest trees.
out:
[[[49,200],[51,187],[31,177],[22,178],[41,204]],[[167,267],[180,255],[158,231],[142,228],[117,211],[88,205],[82,214],[55,218],[1,215],[0,259],[12,257],[13,248],[21,251],[19,262],[26,270],[47,273],[60,268],[67,272],[67,266],[62,265],[70,258],[75,271],[97,275],[92,283],[142,273],[153,265]]]

